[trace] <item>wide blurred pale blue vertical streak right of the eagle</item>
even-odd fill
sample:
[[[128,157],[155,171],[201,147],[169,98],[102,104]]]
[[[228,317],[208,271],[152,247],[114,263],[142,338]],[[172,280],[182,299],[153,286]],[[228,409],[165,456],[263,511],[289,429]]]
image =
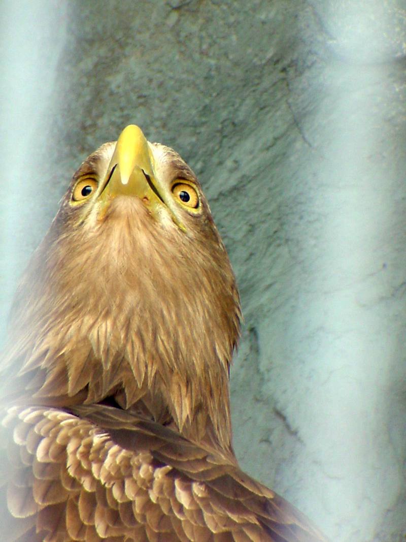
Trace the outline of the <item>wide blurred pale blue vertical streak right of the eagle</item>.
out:
[[[385,131],[393,137],[385,115],[394,92],[387,63],[396,19],[383,2],[337,4],[329,2],[323,21],[334,39],[324,88],[320,81],[319,190],[308,203],[321,217],[312,232],[317,249],[309,253],[313,275],[293,317],[294,334],[303,339],[293,357],[303,366],[285,369],[284,379],[313,383],[300,398],[304,456],[313,467],[298,493],[323,501],[326,532],[349,542],[376,536],[404,483],[389,414],[402,322],[391,275],[401,260],[391,157],[381,152]]]

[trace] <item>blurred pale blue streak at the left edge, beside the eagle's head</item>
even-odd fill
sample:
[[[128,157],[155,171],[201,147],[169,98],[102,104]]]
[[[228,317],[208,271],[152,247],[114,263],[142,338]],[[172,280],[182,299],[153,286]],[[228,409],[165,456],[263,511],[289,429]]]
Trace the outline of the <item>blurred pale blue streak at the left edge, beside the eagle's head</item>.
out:
[[[34,238],[30,234],[33,219],[41,215],[31,196],[48,144],[48,112],[66,33],[64,12],[63,2],[56,0],[8,0],[0,5],[0,343],[19,275],[44,233],[38,231]]]

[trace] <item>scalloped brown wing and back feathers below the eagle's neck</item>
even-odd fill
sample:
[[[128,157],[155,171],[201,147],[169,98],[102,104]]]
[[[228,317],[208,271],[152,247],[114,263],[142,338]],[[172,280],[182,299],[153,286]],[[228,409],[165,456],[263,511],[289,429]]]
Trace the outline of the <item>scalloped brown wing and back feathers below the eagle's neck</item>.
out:
[[[232,456],[129,412],[14,406],[3,426],[2,540],[325,541]]]

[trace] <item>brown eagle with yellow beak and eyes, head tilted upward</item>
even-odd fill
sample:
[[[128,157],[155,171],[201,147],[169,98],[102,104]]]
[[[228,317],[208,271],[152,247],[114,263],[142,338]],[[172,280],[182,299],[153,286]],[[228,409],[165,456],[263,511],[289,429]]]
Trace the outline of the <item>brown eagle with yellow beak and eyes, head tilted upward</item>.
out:
[[[16,293],[1,539],[325,541],[235,459],[240,317],[197,178],[127,126],[75,173]]]

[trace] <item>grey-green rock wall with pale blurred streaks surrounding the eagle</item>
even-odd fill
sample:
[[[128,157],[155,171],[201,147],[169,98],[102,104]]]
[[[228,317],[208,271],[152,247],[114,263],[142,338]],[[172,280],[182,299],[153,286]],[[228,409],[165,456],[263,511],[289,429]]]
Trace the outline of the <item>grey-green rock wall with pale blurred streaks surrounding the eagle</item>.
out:
[[[86,156],[136,123],[206,195],[245,317],[249,474],[335,542],[406,535],[406,1],[3,0],[1,341]]]

